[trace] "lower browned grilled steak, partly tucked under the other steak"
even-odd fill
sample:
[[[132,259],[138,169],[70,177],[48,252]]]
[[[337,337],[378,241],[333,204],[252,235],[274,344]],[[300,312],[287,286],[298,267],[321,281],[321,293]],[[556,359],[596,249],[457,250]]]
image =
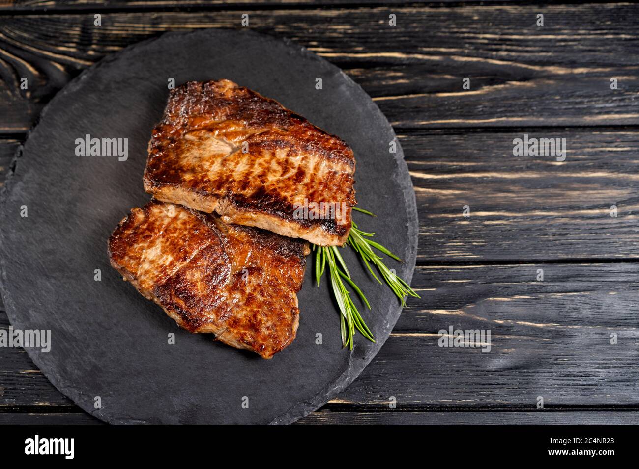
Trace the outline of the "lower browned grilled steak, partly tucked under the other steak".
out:
[[[270,358],[295,338],[307,243],[150,202],[109,238],[125,280],[190,332]]]

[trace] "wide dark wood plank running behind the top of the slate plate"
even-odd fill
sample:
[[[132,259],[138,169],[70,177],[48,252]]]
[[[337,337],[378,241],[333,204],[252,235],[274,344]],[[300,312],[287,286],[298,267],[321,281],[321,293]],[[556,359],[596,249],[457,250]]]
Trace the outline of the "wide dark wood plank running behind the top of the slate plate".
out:
[[[545,26],[535,25],[543,11]],[[341,66],[397,129],[636,124],[633,4],[249,10],[250,29]],[[397,26],[389,26],[389,14]],[[0,131],[105,54],[164,31],[240,27],[239,11],[0,17]],[[26,77],[28,91],[19,89]],[[462,89],[470,78],[470,90]],[[610,78],[619,89],[610,89]]]

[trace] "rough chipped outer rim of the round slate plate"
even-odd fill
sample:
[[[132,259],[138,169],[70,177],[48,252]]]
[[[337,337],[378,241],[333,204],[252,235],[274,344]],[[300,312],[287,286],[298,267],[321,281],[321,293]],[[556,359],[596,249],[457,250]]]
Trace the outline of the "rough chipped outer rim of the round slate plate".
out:
[[[166,33],[162,33],[159,36],[156,36],[154,38],[150,38],[144,41],[140,41],[139,43],[132,44],[128,47],[125,47],[119,50],[118,52],[114,52],[113,54],[109,54],[103,57],[102,59],[100,59],[100,61],[89,66],[88,68],[83,70],[79,75],[77,75],[77,77],[74,77],[72,80],[70,80],[70,82],[68,82],[68,84],[66,84],[65,87],[63,87],[63,89],[61,89],[56,94],[56,96],[54,96],[54,98],[52,98],[52,100],[50,100],[49,103],[47,103],[47,105],[45,105],[42,112],[40,112],[40,115],[38,115],[38,118],[36,119],[33,126],[29,129],[29,131],[27,131],[24,142],[22,142],[22,144],[19,145],[15,153],[15,156],[13,157],[12,163],[10,164],[9,170],[6,174],[4,187],[0,191],[0,218],[4,212],[4,204],[6,202],[5,196],[13,188],[13,182],[14,182],[13,174],[15,174],[15,168],[19,164],[20,158],[22,157],[24,145],[28,141],[28,138],[31,135],[31,132],[33,132],[38,126],[38,124],[40,123],[40,120],[42,119],[42,117],[47,114],[49,107],[51,107],[52,104],[56,102],[56,99],[58,98],[58,96],[62,96],[65,93],[69,93],[70,91],[73,91],[75,87],[78,86],[81,83],[81,81],[84,78],[86,78],[88,75],[90,75],[91,73],[96,73],[96,71],[98,71],[102,66],[104,66],[105,64],[109,64],[112,61],[115,61],[116,59],[118,59],[119,56],[121,56],[122,54],[127,54],[127,52],[130,50],[143,47],[144,45],[148,45],[149,43],[152,43],[154,41],[158,41],[162,39],[166,40],[167,38],[171,36],[186,36],[189,34],[194,34],[194,35],[206,34],[211,29],[218,30],[218,31],[219,30],[235,31],[238,34],[252,35],[252,36],[256,36],[257,38],[261,38],[262,40],[277,41],[277,42],[284,43],[284,45],[286,45],[289,48],[295,48],[300,54],[302,54],[302,56],[309,57],[316,61],[325,62],[328,65],[328,68],[333,68],[344,78],[348,86],[351,86],[355,88],[357,91],[360,91],[360,93],[363,93],[366,96],[368,96],[366,91],[364,91],[364,89],[362,89],[360,85],[354,82],[339,67],[330,63],[326,59],[323,59],[323,57],[317,56],[313,52],[307,50],[307,48],[294,43],[288,38],[281,39],[281,38],[275,38],[273,36],[268,36],[266,34],[256,33],[250,30],[236,31],[236,30],[230,30],[230,29],[224,29],[224,28],[197,29],[195,31],[187,31],[187,32],[169,31]],[[408,271],[406,274],[406,283],[410,285],[413,278],[415,264],[417,261],[417,242],[418,242],[418,235],[419,235],[419,221],[417,216],[417,203],[415,200],[415,191],[413,190],[411,177],[410,177],[410,174],[408,173],[408,166],[406,165],[406,162],[404,161],[403,149],[401,148],[401,144],[399,143],[399,140],[396,137],[396,133],[394,129],[390,125],[388,119],[386,119],[385,115],[383,115],[380,108],[374,103],[374,101],[370,97],[369,97],[369,100],[370,100],[369,111],[378,114],[378,117],[380,117],[382,121],[385,121],[385,123],[387,123],[387,125],[389,126],[390,133],[394,137],[394,140],[397,145],[397,151],[394,154],[394,160],[396,160],[396,163],[397,163],[396,182],[398,183],[399,188],[404,196],[404,204],[406,207],[406,214],[408,216],[408,221],[407,221],[408,239],[412,240],[412,242],[410,243],[410,246],[408,246],[406,255],[404,256],[404,265],[408,267]],[[3,244],[4,244],[3,233],[2,233],[2,230],[0,229],[0,295],[2,296],[4,307],[5,307],[5,310],[7,311],[7,315],[10,316],[10,313],[9,313],[10,309],[14,309],[14,310],[17,309],[17,305],[13,303],[12,298],[10,297],[8,293],[8,290],[5,288],[6,272],[4,267],[4,257],[1,255],[3,253],[3,248],[4,248]],[[8,247],[8,249],[10,249],[10,247]],[[312,260],[311,260],[311,263],[312,263]],[[397,321],[398,318],[399,318],[399,315],[397,315],[394,323]],[[10,317],[9,319],[11,322]],[[377,340],[374,347],[367,349],[367,354],[364,356],[361,362],[362,364],[361,369],[358,369],[356,373],[353,374],[353,361],[350,358],[352,355],[349,355],[348,368],[344,371],[344,373],[341,376],[339,376],[339,378],[337,378],[334,382],[328,383],[328,385],[324,389],[322,389],[316,395],[316,398],[312,399],[312,401],[302,402],[302,403],[299,403],[298,405],[293,406],[292,408],[289,408],[289,410],[286,413],[284,413],[284,415],[280,415],[279,417],[276,417],[272,422],[270,422],[270,424],[290,424],[292,422],[295,422],[298,419],[305,417],[305,415],[308,415],[310,412],[317,410],[322,405],[325,405],[325,403],[327,403],[332,397],[334,397],[336,394],[338,394],[340,391],[342,391],[348,385],[350,385],[350,383],[353,382],[353,380],[355,380],[355,378],[357,378],[357,376],[362,371],[364,371],[364,368],[366,368],[366,366],[369,364],[369,362],[371,362],[373,357],[379,352],[381,346],[383,346],[383,344],[389,337],[390,331],[392,331],[392,328],[394,327],[394,323],[389,324],[390,329],[389,329],[389,334],[387,334],[387,336]],[[35,352],[32,352],[30,348],[25,348],[24,350],[26,350],[27,354],[29,355],[31,360],[35,363],[35,365],[38,366],[38,362],[39,362],[38,354]],[[40,366],[38,366],[38,368],[40,368]],[[79,405],[77,403],[77,399],[72,397],[73,393],[68,392],[70,390],[68,389],[63,390],[62,387],[59,385],[59,383],[54,382],[54,380],[51,380],[49,376],[47,376],[47,379],[49,379],[49,381],[56,387],[56,389],[58,389],[58,391],[62,392],[62,394],[72,399],[72,401],[76,405]],[[95,412],[95,409],[87,409],[87,408],[84,408],[84,406],[81,406],[81,408],[85,410],[86,412],[90,413],[91,415],[93,415],[94,417],[99,418],[105,422],[116,423],[116,424],[120,423],[119,421],[113,421],[112,419],[109,418],[108,415],[105,415],[101,412]]]

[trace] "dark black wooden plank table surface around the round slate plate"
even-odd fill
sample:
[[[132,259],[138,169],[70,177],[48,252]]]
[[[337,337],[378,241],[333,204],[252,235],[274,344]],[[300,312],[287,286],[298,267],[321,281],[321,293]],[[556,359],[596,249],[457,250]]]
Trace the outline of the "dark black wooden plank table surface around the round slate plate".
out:
[[[422,299],[300,423],[638,423],[639,5],[0,1],[0,184],[40,109],[82,69],[164,31],[240,28],[243,13],[373,96],[419,207]],[[525,133],[566,138],[566,161],[513,156]],[[450,325],[490,329],[491,352],[440,348]],[[0,348],[0,424],[13,423],[98,421],[26,352]]]

